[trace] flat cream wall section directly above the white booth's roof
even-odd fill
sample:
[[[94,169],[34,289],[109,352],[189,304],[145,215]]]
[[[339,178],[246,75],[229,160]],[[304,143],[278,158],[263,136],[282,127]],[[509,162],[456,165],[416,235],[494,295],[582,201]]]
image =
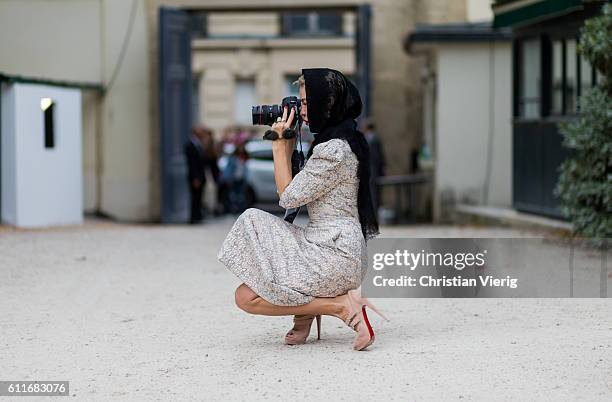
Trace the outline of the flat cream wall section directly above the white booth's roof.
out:
[[[0,1],[0,71],[99,82],[100,0]]]

